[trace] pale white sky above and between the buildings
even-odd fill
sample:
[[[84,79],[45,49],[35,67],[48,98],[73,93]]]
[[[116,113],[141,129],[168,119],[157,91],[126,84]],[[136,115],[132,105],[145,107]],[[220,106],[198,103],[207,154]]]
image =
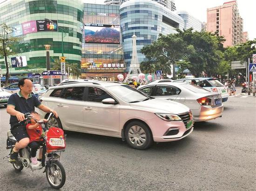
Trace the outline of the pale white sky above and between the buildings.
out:
[[[206,22],[207,8],[221,6],[231,0],[175,0],[177,11],[187,11],[195,18]],[[243,31],[249,33],[249,40],[256,38],[256,0],[236,0],[240,16],[243,18]],[[85,3],[104,4],[104,0],[84,0]]]

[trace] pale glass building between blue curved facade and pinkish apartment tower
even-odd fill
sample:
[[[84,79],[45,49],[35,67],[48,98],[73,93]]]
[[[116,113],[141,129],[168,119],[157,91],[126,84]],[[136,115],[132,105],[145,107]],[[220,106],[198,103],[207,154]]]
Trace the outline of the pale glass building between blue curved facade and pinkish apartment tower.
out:
[[[202,31],[204,29],[204,24],[199,19],[196,19],[190,15],[187,11],[177,11],[176,14],[180,15],[184,20],[184,29],[193,28],[194,31]]]

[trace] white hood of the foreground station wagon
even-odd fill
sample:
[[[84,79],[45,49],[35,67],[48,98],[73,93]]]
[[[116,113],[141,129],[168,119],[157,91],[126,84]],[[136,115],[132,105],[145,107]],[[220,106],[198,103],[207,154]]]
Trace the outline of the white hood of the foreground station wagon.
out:
[[[162,99],[150,99],[143,102],[130,103],[130,106],[152,113],[181,114],[189,111],[189,108],[181,103]]]

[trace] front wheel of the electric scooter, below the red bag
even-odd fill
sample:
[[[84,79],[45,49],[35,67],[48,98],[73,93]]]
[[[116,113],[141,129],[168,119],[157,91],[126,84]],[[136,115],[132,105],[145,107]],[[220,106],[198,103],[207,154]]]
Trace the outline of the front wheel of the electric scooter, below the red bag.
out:
[[[54,189],[60,189],[66,182],[66,172],[59,161],[46,166],[46,178]]]

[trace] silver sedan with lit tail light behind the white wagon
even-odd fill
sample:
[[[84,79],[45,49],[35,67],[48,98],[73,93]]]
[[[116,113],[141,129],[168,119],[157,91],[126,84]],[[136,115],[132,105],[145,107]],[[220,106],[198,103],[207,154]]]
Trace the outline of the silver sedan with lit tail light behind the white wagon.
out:
[[[222,116],[223,104],[219,93],[187,83],[157,83],[138,87],[149,96],[180,102],[188,106],[194,121],[208,121]]]

